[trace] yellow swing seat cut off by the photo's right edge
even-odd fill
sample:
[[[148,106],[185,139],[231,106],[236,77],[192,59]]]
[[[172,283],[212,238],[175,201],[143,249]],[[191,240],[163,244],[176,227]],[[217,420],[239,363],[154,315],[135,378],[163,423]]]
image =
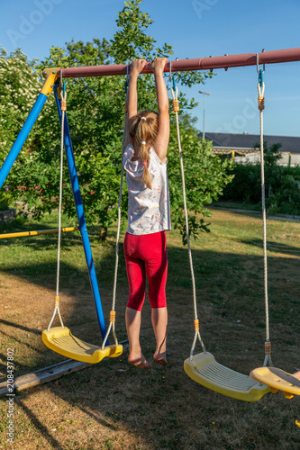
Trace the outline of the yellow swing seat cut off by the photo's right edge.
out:
[[[270,391],[283,391],[286,399],[300,395],[300,380],[277,367],[258,367],[250,372],[250,376],[261,383],[268,384]]]

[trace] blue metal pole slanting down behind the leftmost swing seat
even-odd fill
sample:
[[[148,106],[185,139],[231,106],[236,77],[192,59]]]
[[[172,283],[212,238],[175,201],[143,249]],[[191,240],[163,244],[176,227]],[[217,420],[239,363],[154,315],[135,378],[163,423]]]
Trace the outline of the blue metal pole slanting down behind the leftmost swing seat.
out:
[[[54,95],[55,95],[56,103],[58,106],[59,121],[61,124],[62,114],[61,114],[61,109],[60,109],[60,100],[59,100],[59,96],[58,96],[58,87],[59,87],[59,85],[54,86]],[[95,309],[96,309],[97,316],[98,316],[99,326],[100,326],[100,330],[101,330],[101,336],[104,339],[105,335],[106,335],[105,315],[104,315],[104,311],[102,308],[102,302],[101,302],[101,298],[100,298],[98,282],[97,282],[97,278],[95,275],[95,266],[94,266],[94,261],[93,261],[93,256],[92,256],[92,249],[91,249],[91,245],[89,242],[88,233],[87,233],[87,229],[86,229],[86,219],[85,219],[85,213],[84,213],[83,204],[82,204],[82,200],[81,200],[80,187],[79,187],[79,182],[78,182],[78,177],[77,177],[77,170],[76,170],[76,166],[75,166],[74,152],[73,152],[71,137],[70,137],[69,128],[68,128],[67,113],[65,113],[64,129],[65,129],[64,143],[65,143],[65,151],[66,151],[66,156],[67,156],[67,161],[68,161],[68,172],[70,175],[70,180],[71,180],[72,190],[73,190],[73,195],[74,195],[74,201],[75,201],[75,206],[76,206],[76,211],[77,211],[78,226],[79,226],[79,230],[81,233],[81,238],[82,238],[82,242],[83,242],[83,246],[84,246],[84,250],[85,250],[86,266],[87,266],[87,270],[88,270],[90,283],[92,286],[92,292],[93,292],[94,301],[95,301]],[[106,342],[107,342],[107,345],[109,345],[108,340]]]

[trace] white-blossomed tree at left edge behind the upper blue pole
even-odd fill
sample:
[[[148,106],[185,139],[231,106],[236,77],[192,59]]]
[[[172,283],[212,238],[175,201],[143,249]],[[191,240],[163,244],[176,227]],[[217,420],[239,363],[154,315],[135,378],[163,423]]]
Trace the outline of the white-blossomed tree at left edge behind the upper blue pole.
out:
[[[5,160],[14,140],[23,126],[32,106],[36,100],[37,93],[41,90],[41,78],[36,72],[37,60],[28,60],[27,56],[17,49],[11,55],[7,55],[4,48],[0,47],[0,163]],[[34,125],[29,138],[26,140],[14,169],[8,176],[5,189],[1,190],[0,202],[8,207],[9,202],[19,199],[20,195],[28,197],[32,195],[37,202],[39,195],[35,189],[35,184],[31,183],[31,174],[26,174],[29,166],[34,166],[37,160],[35,153],[41,148],[41,139],[44,133],[41,132],[41,122],[50,115],[50,105],[53,99],[46,103],[43,112]],[[51,130],[49,131],[50,138]],[[40,159],[38,159],[40,164]],[[38,167],[36,166],[38,170]],[[40,178],[42,171],[40,173]],[[30,180],[28,182],[28,180]],[[32,187],[31,187],[32,186]],[[28,187],[28,192],[23,192]]]

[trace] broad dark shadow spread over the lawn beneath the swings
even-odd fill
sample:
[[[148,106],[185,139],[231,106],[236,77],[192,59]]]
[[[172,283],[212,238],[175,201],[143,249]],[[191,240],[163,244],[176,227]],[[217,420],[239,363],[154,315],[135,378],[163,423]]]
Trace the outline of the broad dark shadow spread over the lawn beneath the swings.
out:
[[[261,241],[257,239],[254,244],[252,240],[246,243],[259,246],[259,242]],[[295,252],[294,247],[283,247],[285,247],[286,254]],[[283,249],[281,249],[281,253],[283,253]],[[264,330],[261,329],[260,333],[260,330],[256,329],[262,327],[264,323],[262,257],[228,254],[221,251],[194,250],[193,258],[197,297],[200,299],[198,307],[202,328],[205,331],[204,340],[209,341],[208,351],[212,349],[216,352],[216,357],[221,359],[224,365],[228,365],[234,370],[239,367],[240,372],[247,374],[251,367],[259,365],[260,350],[259,356],[253,356],[253,353],[257,351],[257,347],[253,344],[254,340],[261,339],[263,342]],[[282,339],[288,333],[289,339],[293,340],[292,336],[296,339],[299,320],[299,305],[296,302],[293,306],[292,316],[290,313],[290,300],[293,297],[296,299],[300,291],[295,260],[287,257],[269,257],[269,266],[271,267],[269,272],[270,289],[273,293],[270,317],[272,318],[274,314],[274,317],[279,320],[277,323],[280,323],[280,329],[275,330],[275,334],[277,338],[281,336]],[[5,272],[26,279],[32,284],[51,286],[54,289],[55,268],[55,263],[23,266],[18,261],[14,266],[6,266]],[[98,262],[96,271],[100,294],[105,309],[108,310],[113,289],[114,248],[107,257]],[[82,335],[87,330],[90,336],[93,336],[95,309],[89,293],[90,287],[86,271],[75,269],[74,266],[63,262],[61,276],[62,289],[67,289],[74,299],[74,308],[70,312],[68,320],[76,324],[76,328],[82,332]],[[284,290],[283,279],[287,277],[292,282]],[[128,291],[123,255],[120,256],[118,280],[116,311],[121,311],[123,314]],[[238,418],[247,415],[247,425],[243,426],[248,430],[246,433],[250,437],[259,435],[258,420],[262,426],[265,424],[268,428],[269,421],[274,419],[272,409],[268,409],[268,416],[265,417],[259,413],[257,404],[245,404],[223,398],[192,382],[183,372],[183,361],[189,355],[194,335],[191,286],[186,249],[168,248],[168,348],[170,352],[168,367],[154,366],[150,371],[139,371],[139,369],[129,366],[126,362],[127,357],[123,355],[115,360],[106,358],[100,365],[95,365],[81,373],[70,374],[68,377],[59,379],[57,383],[49,383],[47,389],[41,386],[40,395],[45,392],[46,396],[47,390],[50,390],[53,395],[68,404],[68,406],[65,405],[66,409],[80,410],[84,416],[91,419],[96,433],[103,432],[104,437],[101,439],[107,439],[106,444],[105,440],[101,441],[102,447],[96,446],[96,444],[93,447],[91,443],[88,443],[87,437],[80,444],[76,443],[76,438],[71,437],[70,434],[68,437],[73,439],[73,444],[70,442],[66,447],[66,441],[60,441],[64,437],[54,438],[51,436],[51,411],[49,412],[50,420],[46,419],[45,415],[39,419],[28,406],[28,400],[24,405],[21,393],[20,407],[23,408],[28,419],[50,446],[53,448],[71,448],[72,446],[74,448],[114,448],[114,446],[110,446],[109,439],[115,439],[116,442],[119,437],[122,439],[125,432],[130,437],[132,434],[140,437],[143,444],[132,446],[131,441],[124,448],[186,450],[187,448],[200,448],[200,446],[193,446],[195,440],[200,438],[201,448],[204,449],[212,448],[211,439],[213,442],[218,442],[220,448],[221,446],[223,448],[240,448],[238,445],[231,446],[232,437],[230,437],[233,433],[237,439],[240,439],[241,427]],[[282,294],[286,295],[286,291],[289,297],[283,298]],[[86,299],[84,304],[83,297]],[[45,302],[45,307],[51,314],[52,304]],[[148,303],[144,306],[144,317],[148,319],[142,323],[141,343],[146,349],[146,356],[151,357],[150,351],[153,350],[154,339]],[[93,327],[89,325],[88,318],[89,320],[93,318]],[[20,325],[15,320],[13,322],[7,319],[4,320],[4,324],[14,327],[14,329],[40,335],[40,330],[26,327],[25,320],[24,315]],[[120,320],[123,319],[120,318]],[[291,355],[295,354],[295,351],[295,346],[287,352],[286,349],[279,348],[279,356],[288,365],[289,359]],[[50,350],[46,353],[50,353]],[[20,366],[19,370],[24,369],[25,367],[22,369]],[[32,366],[32,370],[35,369],[36,367]],[[32,394],[33,392],[35,391],[32,390]],[[24,395],[28,395],[28,393]],[[29,399],[30,396],[31,394],[28,395]],[[199,403],[201,407],[199,407]],[[265,404],[264,400],[262,400],[262,404]],[[280,401],[279,404],[283,405]],[[223,411],[227,412],[223,414]],[[232,411],[236,418],[233,422]],[[274,416],[276,414],[278,411],[274,410]],[[60,417],[63,417],[62,413]],[[191,417],[195,419],[196,427],[190,420]],[[212,425],[216,421],[218,429]],[[84,425],[82,423],[82,427]],[[281,444],[287,445],[289,437],[285,438],[285,427],[278,425],[274,436],[272,435],[272,442],[267,442],[271,437],[266,440],[266,435],[261,432],[256,437],[257,448],[266,446],[276,448],[277,445],[279,448]],[[202,433],[201,436],[198,434],[199,430]],[[295,439],[295,437],[293,438]],[[248,441],[244,441],[244,448],[252,448],[251,441],[249,440],[248,444],[246,442]],[[145,446],[143,447],[143,445]]]

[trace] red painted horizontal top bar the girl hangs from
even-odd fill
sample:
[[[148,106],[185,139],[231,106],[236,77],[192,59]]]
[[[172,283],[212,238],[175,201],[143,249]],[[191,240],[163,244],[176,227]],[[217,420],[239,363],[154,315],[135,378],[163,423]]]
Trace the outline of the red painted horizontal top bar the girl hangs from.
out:
[[[260,64],[276,64],[281,62],[300,61],[300,48],[271,50],[259,53]],[[256,53],[243,53],[240,55],[227,55],[222,57],[178,59],[171,62],[171,71],[186,72],[188,70],[209,70],[213,68],[255,66],[257,64]],[[165,72],[169,72],[169,63],[166,64]],[[142,71],[143,74],[152,73],[150,64]],[[63,78],[75,78],[81,76],[111,76],[126,75],[127,65],[105,65],[87,67],[63,68]]]

